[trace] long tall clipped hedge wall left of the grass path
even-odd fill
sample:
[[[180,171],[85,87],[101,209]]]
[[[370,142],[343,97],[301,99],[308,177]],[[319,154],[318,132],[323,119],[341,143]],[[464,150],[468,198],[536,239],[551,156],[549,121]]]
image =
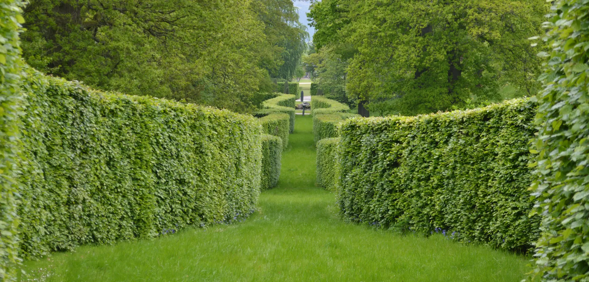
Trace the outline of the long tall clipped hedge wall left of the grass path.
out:
[[[32,70],[23,89],[21,257],[253,212],[262,169],[254,117]]]

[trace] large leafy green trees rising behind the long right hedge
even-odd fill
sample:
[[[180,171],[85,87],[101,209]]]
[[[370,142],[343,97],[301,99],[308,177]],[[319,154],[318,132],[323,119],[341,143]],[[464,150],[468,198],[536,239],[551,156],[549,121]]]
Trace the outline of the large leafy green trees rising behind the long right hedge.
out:
[[[415,115],[534,95],[542,0],[323,0],[307,71],[331,99]]]

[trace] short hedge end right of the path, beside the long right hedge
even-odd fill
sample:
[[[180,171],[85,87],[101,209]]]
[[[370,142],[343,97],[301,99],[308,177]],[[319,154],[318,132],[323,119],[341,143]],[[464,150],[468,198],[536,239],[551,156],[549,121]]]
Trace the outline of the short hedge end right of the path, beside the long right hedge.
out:
[[[337,160],[339,138],[325,138],[317,142],[317,184],[330,191],[336,190],[339,178]]]

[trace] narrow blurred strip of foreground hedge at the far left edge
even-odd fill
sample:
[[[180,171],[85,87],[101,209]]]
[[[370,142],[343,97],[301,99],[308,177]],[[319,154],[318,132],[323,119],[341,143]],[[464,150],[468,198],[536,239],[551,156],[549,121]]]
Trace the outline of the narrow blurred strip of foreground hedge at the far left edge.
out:
[[[18,215],[16,195],[18,184],[19,150],[18,125],[22,114],[22,95],[19,92],[22,61],[18,34],[21,31],[19,0],[5,0],[0,4],[0,281],[15,281],[18,264]]]

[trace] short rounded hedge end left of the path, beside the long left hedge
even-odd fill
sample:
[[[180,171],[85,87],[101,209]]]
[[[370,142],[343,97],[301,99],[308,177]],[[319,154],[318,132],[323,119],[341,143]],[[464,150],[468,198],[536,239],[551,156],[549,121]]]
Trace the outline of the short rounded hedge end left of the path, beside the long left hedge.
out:
[[[260,188],[270,189],[278,184],[280,160],[282,159],[282,140],[274,135],[264,134],[262,138],[262,180]]]

